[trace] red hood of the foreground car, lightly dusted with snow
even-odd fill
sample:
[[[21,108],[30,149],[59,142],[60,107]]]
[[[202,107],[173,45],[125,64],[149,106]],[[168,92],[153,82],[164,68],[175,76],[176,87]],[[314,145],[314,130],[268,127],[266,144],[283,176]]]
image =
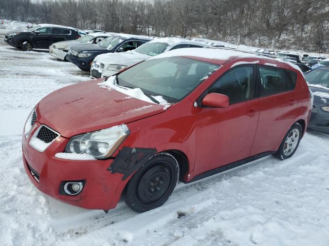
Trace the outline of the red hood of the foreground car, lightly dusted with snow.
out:
[[[163,106],[101,88],[102,79],[90,80],[54,91],[44,97],[36,113],[41,124],[72,136],[127,124],[164,111]]]

